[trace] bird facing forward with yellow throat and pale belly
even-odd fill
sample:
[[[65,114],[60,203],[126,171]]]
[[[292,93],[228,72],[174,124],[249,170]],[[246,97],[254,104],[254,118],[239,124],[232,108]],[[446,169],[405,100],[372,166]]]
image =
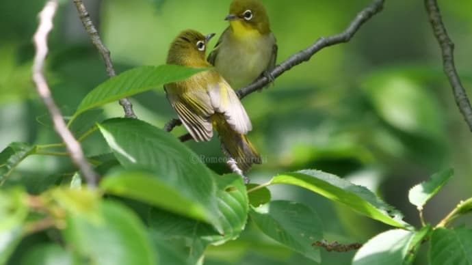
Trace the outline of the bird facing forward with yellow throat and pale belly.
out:
[[[226,16],[229,27],[211,51],[208,61],[237,89],[252,83],[276,64],[276,38],[269,17],[257,0],[233,0]]]

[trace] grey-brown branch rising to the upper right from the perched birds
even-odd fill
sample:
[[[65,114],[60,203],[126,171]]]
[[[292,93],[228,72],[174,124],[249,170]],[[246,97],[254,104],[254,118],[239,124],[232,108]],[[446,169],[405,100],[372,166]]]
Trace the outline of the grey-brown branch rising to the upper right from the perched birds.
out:
[[[343,32],[329,36],[326,38],[319,38],[315,43],[311,44],[308,48],[305,48],[302,51],[299,51],[298,53],[295,53],[294,55],[291,55],[288,59],[283,61],[281,64],[276,66],[272,71],[270,72],[270,75],[276,79],[278,76],[282,75],[284,72],[287,72],[294,66],[298,66],[299,64],[302,64],[304,61],[309,61],[315,53],[321,51],[323,48],[326,48],[328,46],[336,45],[336,44],[341,44],[345,42],[349,42],[351,38],[356,34],[358,29],[367,22],[370,18],[372,18],[375,14],[378,12],[382,11],[384,6],[384,0],[375,0],[373,1],[367,8],[364,8],[361,12],[359,12],[354,18],[354,20],[351,21],[351,23],[348,25],[348,28],[345,29]],[[272,80],[273,81],[273,80]],[[271,80],[267,78],[265,75],[261,76],[259,79],[254,81],[252,84],[242,87],[240,89],[237,89],[236,94],[239,97],[239,99],[243,99],[244,97],[248,96],[249,94],[261,89],[261,87],[265,87],[265,85],[269,84]],[[181,139],[187,140],[188,137],[187,135],[181,136]],[[192,139],[192,138],[190,138]]]

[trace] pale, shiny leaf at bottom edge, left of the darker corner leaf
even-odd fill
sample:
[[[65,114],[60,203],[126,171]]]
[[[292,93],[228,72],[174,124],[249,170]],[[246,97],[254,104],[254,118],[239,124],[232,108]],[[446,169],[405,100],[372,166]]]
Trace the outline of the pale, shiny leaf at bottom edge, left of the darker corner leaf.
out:
[[[371,238],[357,251],[352,265],[404,264],[415,232],[392,229]]]

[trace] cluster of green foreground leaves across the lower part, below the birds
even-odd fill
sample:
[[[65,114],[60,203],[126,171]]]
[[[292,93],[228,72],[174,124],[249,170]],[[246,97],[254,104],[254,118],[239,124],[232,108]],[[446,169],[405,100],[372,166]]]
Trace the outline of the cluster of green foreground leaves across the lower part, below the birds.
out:
[[[411,264],[426,240],[431,264],[472,259],[472,230],[446,228],[472,209],[472,200],[459,204],[436,227],[423,222],[417,229],[367,188],[335,175],[302,170],[245,186],[235,174],[217,175],[186,145],[146,122],[95,120],[96,107],[202,70],[135,68],[83,98],[68,125],[79,141],[99,132],[111,150],[88,157],[102,176],[97,189],[83,186],[77,172],[72,178],[47,176],[34,193],[21,180],[9,183],[12,171],[27,156],[66,154],[50,150],[63,148],[62,143],[8,145],[0,153],[0,264],[7,263],[22,244],[34,245],[19,257],[23,264],[196,264],[204,262],[210,246],[238,240],[248,223],[272,238],[275,249],[290,249],[322,262],[324,250],[313,246],[324,239],[317,212],[296,201],[272,200],[267,187],[276,184],[299,186],[395,227],[369,240],[353,264]],[[451,171],[439,173],[410,191],[410,201],[420,213],[451,175]],[[49,240],[29,242],[36,233]]]

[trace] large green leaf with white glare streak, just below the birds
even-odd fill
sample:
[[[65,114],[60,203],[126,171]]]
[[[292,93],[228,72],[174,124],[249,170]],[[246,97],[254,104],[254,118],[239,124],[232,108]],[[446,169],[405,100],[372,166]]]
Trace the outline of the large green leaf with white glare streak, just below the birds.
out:
[[[192,159],[196,154],[187,146],[169,133],[140,120],[107,120],[99,124],[99,129],[125,169],[151,171],[166,185],[159,184],[161,189],[166,188],[166,195],[178,191],[180,197],[194,201],[193,205],[205,209],[205,214],[198,215],[200,220],[221,230],[212,173],[200,161]],[[200,208],[193,210],[193,217],[197,217],[195,213]]]

